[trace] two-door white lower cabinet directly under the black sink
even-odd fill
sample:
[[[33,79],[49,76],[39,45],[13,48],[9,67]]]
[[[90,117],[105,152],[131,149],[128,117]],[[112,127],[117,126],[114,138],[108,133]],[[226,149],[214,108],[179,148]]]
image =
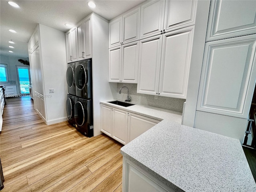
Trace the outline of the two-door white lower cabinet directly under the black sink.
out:
[[[100,130],[122,144],[127,144],[128,112],[100,105]]]

